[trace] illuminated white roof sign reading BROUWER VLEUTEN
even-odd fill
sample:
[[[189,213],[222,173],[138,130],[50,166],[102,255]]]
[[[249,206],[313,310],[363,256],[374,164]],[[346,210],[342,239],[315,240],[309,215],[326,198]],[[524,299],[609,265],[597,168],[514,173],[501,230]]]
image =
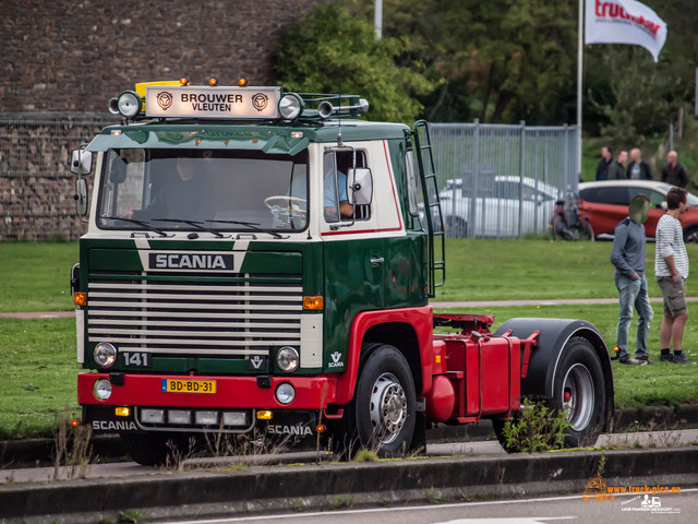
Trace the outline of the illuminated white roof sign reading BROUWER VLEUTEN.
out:
[[[276,119],[280,87],[190,87],[147,85],[148,117]]]

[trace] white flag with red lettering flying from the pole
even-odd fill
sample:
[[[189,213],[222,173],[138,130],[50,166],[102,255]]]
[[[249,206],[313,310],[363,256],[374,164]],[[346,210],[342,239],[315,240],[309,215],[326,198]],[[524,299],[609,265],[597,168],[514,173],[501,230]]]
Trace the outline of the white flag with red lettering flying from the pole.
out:
[[[666,23],[635,0],[587,0],[585,40],[642,46],[657,62],[666,41]]]

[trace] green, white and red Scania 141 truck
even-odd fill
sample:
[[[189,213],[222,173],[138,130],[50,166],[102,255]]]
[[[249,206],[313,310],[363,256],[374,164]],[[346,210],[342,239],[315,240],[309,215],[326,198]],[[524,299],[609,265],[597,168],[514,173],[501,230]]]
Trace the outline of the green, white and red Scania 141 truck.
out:
[[[109,102],[120,124],[71,158],[88,223],[71,275],[81,424],[119,432],[141,464],[219,432],[396,455],[438,424],[492,419],[503,441],[531,397],[566,413],[569,445],[595,439],[613,413],[598,330],[433,313],[429,126],[368,108],[186,79]]]

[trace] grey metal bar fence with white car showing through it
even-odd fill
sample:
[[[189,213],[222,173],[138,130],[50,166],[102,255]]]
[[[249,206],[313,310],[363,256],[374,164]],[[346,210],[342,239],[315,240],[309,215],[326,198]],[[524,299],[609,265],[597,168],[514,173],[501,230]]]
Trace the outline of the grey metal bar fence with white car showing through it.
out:
[[[577,191],[577,127],[432,123],[446,236],[520,238],[549,230]]]

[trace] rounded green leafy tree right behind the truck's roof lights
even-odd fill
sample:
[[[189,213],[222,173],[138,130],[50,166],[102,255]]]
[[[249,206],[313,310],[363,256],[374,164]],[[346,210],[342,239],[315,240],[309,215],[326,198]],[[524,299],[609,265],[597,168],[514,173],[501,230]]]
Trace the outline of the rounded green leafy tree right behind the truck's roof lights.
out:
[[[279,82],[290,91],[359,94],[369,99],[372,120],[412,122],[434,82],[420,66],[396,60],[408,38],[376,39],[374,27],[338,4],[321,5],[294,24],[276,53]]]

